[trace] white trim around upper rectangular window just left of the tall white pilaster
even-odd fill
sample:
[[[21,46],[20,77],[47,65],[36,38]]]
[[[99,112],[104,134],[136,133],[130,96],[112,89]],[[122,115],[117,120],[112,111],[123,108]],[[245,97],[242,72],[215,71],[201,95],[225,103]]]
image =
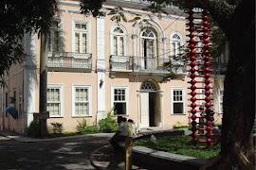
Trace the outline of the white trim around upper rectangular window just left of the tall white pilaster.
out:
[[[77,20],[77,19],[73,19],[72,20],[72,28],[71,28],[71,32],[72,32],[72,36],[71,36],[71,46],[72,46],[72,52],[75,52],[75,24],[86,24],[87,25],[87,31],[85,31],[87,33],[87,53],[91,53],[91,21],[85,21],[85,20]]]

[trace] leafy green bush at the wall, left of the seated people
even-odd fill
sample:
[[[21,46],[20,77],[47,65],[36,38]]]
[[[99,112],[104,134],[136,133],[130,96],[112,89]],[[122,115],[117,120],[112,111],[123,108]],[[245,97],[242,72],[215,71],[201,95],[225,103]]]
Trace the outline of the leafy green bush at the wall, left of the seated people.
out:
[[[100,130],[103,133],[112,133],[118,130],[119,124],[116,119],[111,116],[115,110],[115,106],[107,112],[107,116],[99,121]],[[115,111],[114,111],[115,112]],[[115,113],[114,113],[115,114]]]

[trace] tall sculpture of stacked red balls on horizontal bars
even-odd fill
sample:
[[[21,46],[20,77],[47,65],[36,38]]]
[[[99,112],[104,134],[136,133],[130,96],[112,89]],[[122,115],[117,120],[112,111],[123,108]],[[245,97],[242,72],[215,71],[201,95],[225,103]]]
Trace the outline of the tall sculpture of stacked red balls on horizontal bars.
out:
[[[189,83],[191,84],[191,87],[189,88],[191,90],[191,104],[189,105],[190,114],[191,116],[189,118],[192,119],[192,122],[190,123],[192,125],[192,140],[190,141],[193,145],[198,145],[198,143],[205,143],[204,146],[198,146],[198,147],[212,147],[211,143],[211,136],[213,134],[211,133],[211,120],[213,118],[212,113],[213,110],[210,110],[211,103],[210,101],[212,98],[210,98],[210,72],[212,71],[210,69],[210,34],[209,34],[209,18],[208,10],[202,10],[195,12],[192,8],[190,8],[187,12],[189,14],[189,17],[187,18],[189,20],[189,46],[188,48],[190,51],[187,53],[188,58],[188,65],[190,66],[189,76],[191,80]],[[193,16],[195,15],[195,16]],[[197,77],[203,77],[203,81],[197,80]],[[202,78],[201,78],[202,79]],[[197,84],[203,83],[204,87],[199,87]],[[204,89],[205,93],[198,93],[197,89]],[[200,96],[204,96],[203,98],[197,97],[198,94]],[[205,105],[199,105],[198,100],[204,100]],[[200,113],[200,116],[196,115],[196,113]],[[198,121],[200,119],[200,121]],[[199,126],[199,127],[198,127]],[[202,140],[202,137],[204,138]]]

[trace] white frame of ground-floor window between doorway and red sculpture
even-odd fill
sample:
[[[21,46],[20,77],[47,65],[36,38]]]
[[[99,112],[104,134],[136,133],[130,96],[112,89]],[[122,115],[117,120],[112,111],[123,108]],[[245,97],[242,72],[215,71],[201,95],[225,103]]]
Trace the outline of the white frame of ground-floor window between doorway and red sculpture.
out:
[[[174,101],[174,91],[182,91],[182,103],[183,103],[183,113],[174,113],[174,103],[180,103]],[[186,114],[186,99],[185,99],[185,88],[184,87],[171,87],[171,113],[173,115],[185,115]]]

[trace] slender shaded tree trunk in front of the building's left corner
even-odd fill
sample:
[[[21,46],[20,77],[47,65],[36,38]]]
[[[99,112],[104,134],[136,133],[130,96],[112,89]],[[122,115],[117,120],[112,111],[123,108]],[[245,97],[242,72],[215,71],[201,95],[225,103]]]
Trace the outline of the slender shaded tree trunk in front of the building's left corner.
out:
[[[47,58],[46,58],[46,34],[41,33],[41,46],[40,46],[40,89],[39,89],[39,113],[46,113],[47,109]],[[46,118],[39,119],[40,136],[46,137],[48,135]]]

